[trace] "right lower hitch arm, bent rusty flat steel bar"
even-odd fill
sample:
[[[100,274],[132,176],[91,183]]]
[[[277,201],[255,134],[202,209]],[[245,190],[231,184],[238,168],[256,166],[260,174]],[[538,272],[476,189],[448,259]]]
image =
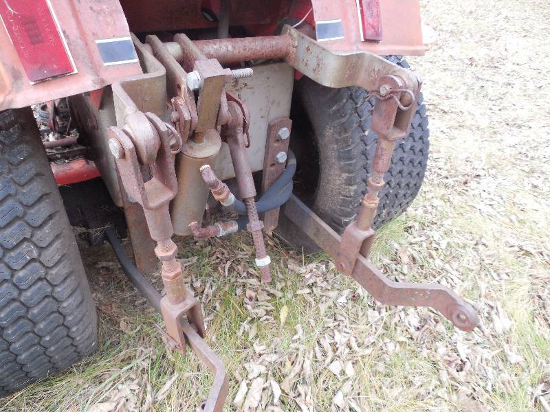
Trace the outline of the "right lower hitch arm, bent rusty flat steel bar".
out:
[[[294,195],[285,204],[284,211],[287,218],[302,229],[318,247],[336,259],[342,241],[336,231]],[[474,308],[445,286],[393,282],[363,256],[358,257],[351,277],[382,304],[428,306],[449,319],[456,328],[465,331],[473,330],[478,324]]]

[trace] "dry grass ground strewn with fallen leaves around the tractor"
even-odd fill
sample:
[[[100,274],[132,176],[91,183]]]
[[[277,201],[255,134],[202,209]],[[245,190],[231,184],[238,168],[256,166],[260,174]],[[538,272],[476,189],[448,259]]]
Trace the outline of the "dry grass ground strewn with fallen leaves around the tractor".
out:
[[[228,367],[227,411],[550,411],[550,7],[422,7],[437,43],[409,60],[425,80],[429,170],[406,215],[377,238],[373,260],[390,277],[452,287],[481,324],[464,333],[431,310],[377,304],[323,255],[276,240],[270,287],[250,271],[248,234],[183,242],[208,342]],[[100,348],[0,409],[195,411],[207,371],[166,349],[160,318],[107,246],[80,247]]]

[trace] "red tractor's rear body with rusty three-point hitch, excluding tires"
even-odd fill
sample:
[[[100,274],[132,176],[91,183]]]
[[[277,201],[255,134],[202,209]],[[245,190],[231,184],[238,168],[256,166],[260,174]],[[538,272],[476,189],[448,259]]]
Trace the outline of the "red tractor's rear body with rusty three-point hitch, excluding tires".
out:
[[[0,110],[68,98],[89,155],[66,159],[63,179],[100,175],[124,211],[135,263],[109,217],[96,223],[108,227],[104,237],[124,272],[162,314],[170,345],[181,352],[188,345],[212,369],[204,410],[221,410],[228,380],[203,341],[201,306],[184,286],[174,234],[248,230],[257,271],[271,282],[264,232],[298,230],[383,304],[429,306],[461,330],[476,326],[474,310],[452,290],[390,281],[368,260],[384,176],[410,133],[421,89],[415,73],[382,56],[423,53],[417,1],[23,0],[5,1],[0,15]],[[374,104],[368,188],[349,206],[353,218],[341,235],[293,187],[314,152],[307,144],[300,154],[291,150],[300,140],[292,130],[300,118],[290,117],[302,78],[364,89],[363,101]],[[316,150],[332,155],[320,144]],[[59,182],[60,166],[52,170]],[[203,226],[213,205],[236,217]],[[143,275],[157,262],[164,296]]]

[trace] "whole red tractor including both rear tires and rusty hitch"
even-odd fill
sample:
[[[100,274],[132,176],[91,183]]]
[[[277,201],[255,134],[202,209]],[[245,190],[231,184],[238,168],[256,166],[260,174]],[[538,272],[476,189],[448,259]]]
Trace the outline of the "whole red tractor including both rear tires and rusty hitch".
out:
[[[452,290],[390,281],[367,260],[428,160],[421,81],[401,57],[425,51],[417,0],[4,0],[0,17],[0,396],[97,347],[76,220],[106,228],[95,240],[170,345],[212,369],[207,411],[228,381],[174,234],[248,230],[270,282],[274,231],[326,251],[384,304],[476,326]],[[76,193],[65,206],[58,185]],[[204,226],[205,209],[234,218]],[[164,296],[144,277],[158,260]]]

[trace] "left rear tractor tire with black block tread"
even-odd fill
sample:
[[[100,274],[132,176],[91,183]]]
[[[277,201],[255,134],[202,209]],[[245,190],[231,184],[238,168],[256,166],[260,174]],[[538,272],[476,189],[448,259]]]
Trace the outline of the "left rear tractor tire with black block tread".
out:
[[[0,112],[0,397],[96,347],[94,300],[32,112]]]

